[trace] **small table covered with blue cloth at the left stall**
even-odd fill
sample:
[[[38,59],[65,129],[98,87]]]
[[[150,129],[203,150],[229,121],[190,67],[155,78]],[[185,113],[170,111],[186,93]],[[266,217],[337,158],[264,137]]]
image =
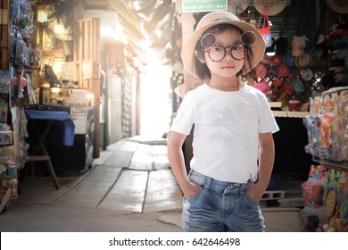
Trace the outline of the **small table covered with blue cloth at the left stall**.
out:
[[[45,145],[73,146],[75,124],[71,120],[70,114],[65,111],[26,109],[25,113],[28,120],[28,141],[33,149],[31,154],[28,154],[27,162],[46,162],[47,169],[54,179],[54,186],[59,189],[60,185]]]

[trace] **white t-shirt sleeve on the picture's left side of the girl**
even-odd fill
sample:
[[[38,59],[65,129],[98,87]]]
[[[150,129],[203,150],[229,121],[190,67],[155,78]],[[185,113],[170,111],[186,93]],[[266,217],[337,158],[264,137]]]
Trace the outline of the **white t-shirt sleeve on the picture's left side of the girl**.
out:
[[[180,134],[189,135],[194,124],[195,105],[190,93],[187,93],[178,108],[176,117],[170,130]]]

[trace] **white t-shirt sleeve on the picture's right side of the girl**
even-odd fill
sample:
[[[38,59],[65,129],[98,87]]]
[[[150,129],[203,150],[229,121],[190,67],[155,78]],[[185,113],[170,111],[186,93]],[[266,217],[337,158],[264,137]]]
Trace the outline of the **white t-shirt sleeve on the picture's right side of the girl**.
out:
[[[259,120],[259,133],[275,133],[279,130],[276,119],[273,112],[270,110],[269,103],[266,96],[259,95],[261,104],[261,117]]]

